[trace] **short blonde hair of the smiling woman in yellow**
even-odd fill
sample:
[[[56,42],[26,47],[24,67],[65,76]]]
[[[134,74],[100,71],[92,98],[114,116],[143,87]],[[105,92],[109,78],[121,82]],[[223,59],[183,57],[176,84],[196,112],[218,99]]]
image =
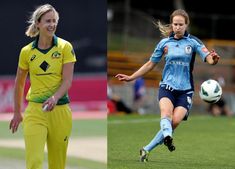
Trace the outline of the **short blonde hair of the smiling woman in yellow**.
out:
[[[53,11],[55,13],[56,16],[56,22],[58,23],[59,21],[59,14],[58,12],[55,10],[55,8],[50,5],[50,4],[45,4],[45,5],[41,5],[39,7],[36,8],[36,10],[32,13],[32,15],[30,16],[29,20],[27,21],[30,25],[27,27],[27,30],[25,32],[25,34],[29,37],[36,37],[39,34],[39,30],[36,26],[37,22],[40,22],[41,17],[49,12],[49,11]]]

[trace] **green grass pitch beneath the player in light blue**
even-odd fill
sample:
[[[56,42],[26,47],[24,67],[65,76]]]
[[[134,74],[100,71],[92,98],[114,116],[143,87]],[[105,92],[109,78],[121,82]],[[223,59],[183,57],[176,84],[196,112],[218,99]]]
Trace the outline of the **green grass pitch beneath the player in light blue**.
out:
[[[158,130],[158,115],[109,116],[108,168],[235,169],[235,118],[191,115],[174,133],[176,151],[162,145],[139,162],[139,149]]]

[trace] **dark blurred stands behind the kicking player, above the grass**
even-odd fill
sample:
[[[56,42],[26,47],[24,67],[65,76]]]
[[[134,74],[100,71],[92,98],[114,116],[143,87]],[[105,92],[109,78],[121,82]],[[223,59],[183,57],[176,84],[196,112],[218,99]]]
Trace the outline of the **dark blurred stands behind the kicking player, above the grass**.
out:
[[[149,60],[160,31],[154,22],[169,23],[169,16],[175,9],[185,9],[190,17],[189,33],[201,39],[209,50],[215,49],[221,56],[219,64],[210,66],[196,58],[194,66],[195,97],[192,113],[208,114],[209,104],[199,98],[200,84],[215,79],[223,88],[223,98],[231,113],[235,112],[235,13],[230,1],[205,4],[202,0],[134,1],[109,0],[108,18],[108,87],[111,100],[109,113],[138,112],[139,114],[159,113],[157,103],[158,84],[161,80],[163,63],[132,83],[119,82],[118,73],[132,74]],[[136,91],[142,99],[136,98]],[[121,108],[118,108],[121,107]]]

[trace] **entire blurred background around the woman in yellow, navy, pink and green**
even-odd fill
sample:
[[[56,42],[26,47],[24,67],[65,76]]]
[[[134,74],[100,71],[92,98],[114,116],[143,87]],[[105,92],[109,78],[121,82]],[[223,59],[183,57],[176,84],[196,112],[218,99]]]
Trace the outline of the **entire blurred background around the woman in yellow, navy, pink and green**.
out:
[[[10,0],[0,5],[0,169],[25,168],[21,128],[12,135],[8,125],[13,115],[13,87],[20,50],[34,40],[25,35],[27,20],[37,6],[45,3],[59,12],[56,35],[72,43],[77,57],[69,90],[74,125],[67,167],[106,168],[106,1]],[[28,88],[29,83],[25,94]],[[16,157],[8,156],[10,152]]]

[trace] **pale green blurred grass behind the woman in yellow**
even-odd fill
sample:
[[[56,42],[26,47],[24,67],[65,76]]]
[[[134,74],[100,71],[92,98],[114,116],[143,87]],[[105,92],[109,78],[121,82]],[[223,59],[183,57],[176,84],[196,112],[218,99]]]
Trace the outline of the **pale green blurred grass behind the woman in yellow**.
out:
[[[22,129],[14,135],[8,129],[8,122],[0,121],[0,141],[3,140],[22,140]],[[87,138],[106,138],[107,123],[106,119],[74,120],[71,134],[72,139]],[[78,145],[79,146],[79,145]],[[79,149],[77,150],[79,151]],[[106,152],[104,152],[106,153]],[[45,153],[44,168],[47,168],[47,153]],[[106,169],[105,162],[68,156],[66,169]],[[25,169],[24,149],[16,147],[0,146],[0,169]]]

